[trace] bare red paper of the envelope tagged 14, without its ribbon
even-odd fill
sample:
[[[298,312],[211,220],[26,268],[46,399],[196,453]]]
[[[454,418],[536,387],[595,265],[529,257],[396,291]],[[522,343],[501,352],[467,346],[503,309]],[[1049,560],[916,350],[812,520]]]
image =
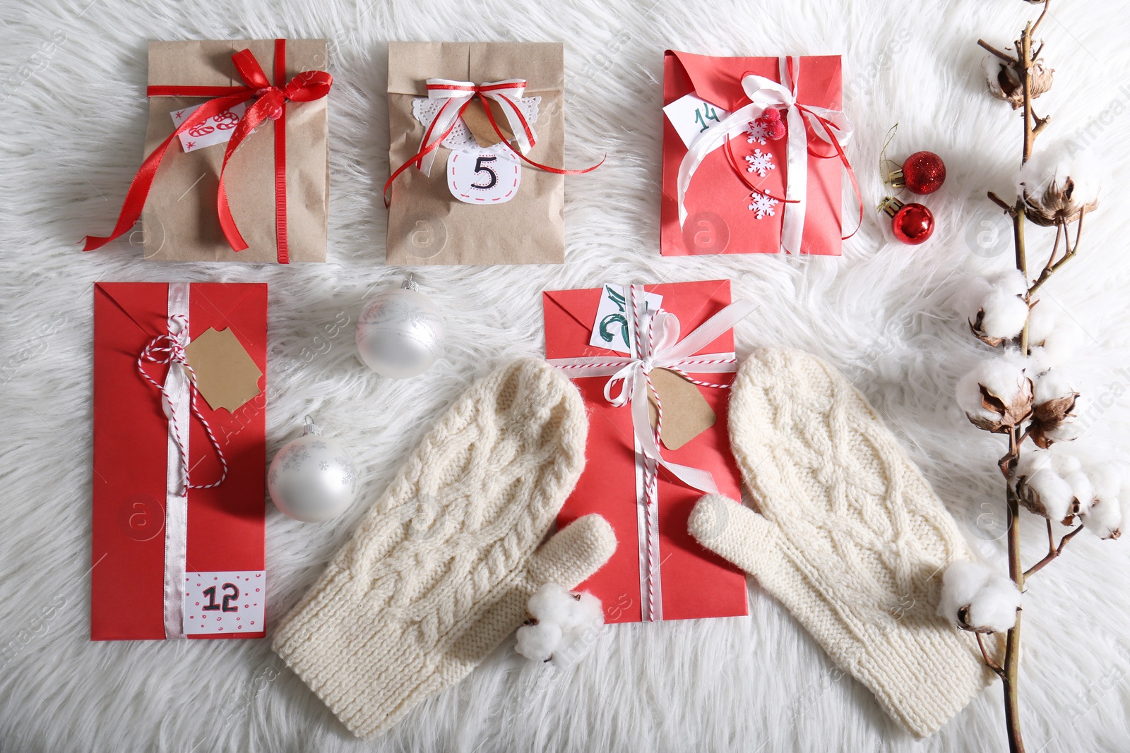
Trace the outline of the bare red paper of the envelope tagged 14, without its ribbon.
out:
[[[741,78],[755,73],[780,81],[777,58],[713,58],[668,50],[663,53],[663,106],[695,93],[728,112],[749,104]],[[802,105],[840,110],[842,96],[838,55],[800,59],[797,100]],[[764,145],[731,139],[740,168],[755,149],[770,152],[775,168],[765,177],[747,174],[755,185],[783,198],[788,178],[786,139],[767,139]],[[801,253],[838,256],[841,249],[843,164],[835,150],[809,129],[808,184]],[[749,210],[750,190],[734,173],[724,149],[710,152],[698,166],[687,189],[684,204],[687,220],[679,227],[678,175],[687,147],[667,115],[663,115],[663,193],[660,200],[660,253],[664,256],[688,254],[775,254],[781,247],[781,222],[789,209],[776,205],[774,216],[757,219]],[[783,211],[782,211],[783,210]]]

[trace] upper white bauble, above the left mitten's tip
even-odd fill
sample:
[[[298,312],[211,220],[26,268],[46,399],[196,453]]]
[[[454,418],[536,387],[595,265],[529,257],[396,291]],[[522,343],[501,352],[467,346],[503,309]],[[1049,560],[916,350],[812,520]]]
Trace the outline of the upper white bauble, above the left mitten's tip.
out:
[[[379,294],[357,317],[357,352],[381,376],[426,371],[443,352],[440,309],[411,281]]]

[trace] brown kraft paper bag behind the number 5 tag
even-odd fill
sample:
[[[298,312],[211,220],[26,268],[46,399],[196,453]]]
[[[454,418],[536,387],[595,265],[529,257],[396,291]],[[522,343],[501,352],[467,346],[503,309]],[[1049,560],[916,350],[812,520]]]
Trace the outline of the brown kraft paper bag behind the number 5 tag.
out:
[[[392,170],[420,148],[424,125],[412,99],[426,97],[429,78],[457,81],[527,80],[525,96],[541,97],[527,155],[560,167],[565,151],[565,55],[549,42],[390,42],[389,161]],[[451,151],[441,147],[432,175],[415,167],[392,184],[388,264],[560,264],[565,261],[562,175],[522,165],[518,194],[496,205],[463,203],[447,190]]]

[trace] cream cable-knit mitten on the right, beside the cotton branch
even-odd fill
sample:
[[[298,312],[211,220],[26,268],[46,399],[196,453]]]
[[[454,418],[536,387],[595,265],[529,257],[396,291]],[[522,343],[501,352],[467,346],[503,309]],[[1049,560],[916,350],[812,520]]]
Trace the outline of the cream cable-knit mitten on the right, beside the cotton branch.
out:
[[[730,443],[760,515],[711,494],[690,534],[755,575],[893,718],[937,730],[992,675],[935,613],[946,564],[970,554],[925,479],[867,399],[799,351],[742,364]]]

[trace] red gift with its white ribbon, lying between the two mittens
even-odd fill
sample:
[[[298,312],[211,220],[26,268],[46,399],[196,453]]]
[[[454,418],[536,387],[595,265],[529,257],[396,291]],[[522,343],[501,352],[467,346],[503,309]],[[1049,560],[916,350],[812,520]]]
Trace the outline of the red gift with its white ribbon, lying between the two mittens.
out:
[[[753,306],[730,306],[728,280],[632,288],[625,326],[638,325],[640,334],[628,356],[589,344],[603,288],[544,294],[546,357],[574,379],[590,420],[584,473],[557,524],[599,513],[618,542],[608,564],[579,588],[601,599],[608,622],[747,614],[745,576],[699,546],[687,519],[711,485],[740,498],[725,385],[736,368],[731,327]],[[644,290],[662,296],[661,312],[644,312]],[[647,418],[652,366],[718,385],[698,387],[714,426],[661,458]]]

